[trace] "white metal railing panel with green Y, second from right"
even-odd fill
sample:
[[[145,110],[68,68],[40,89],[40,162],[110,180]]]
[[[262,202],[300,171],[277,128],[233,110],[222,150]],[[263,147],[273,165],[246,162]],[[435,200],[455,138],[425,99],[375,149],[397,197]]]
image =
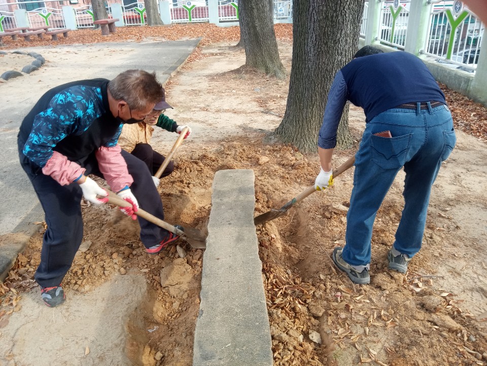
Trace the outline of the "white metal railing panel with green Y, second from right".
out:
[[[404,50],[410,1],[386,1],[380,10],[378,40],[386,45]]]

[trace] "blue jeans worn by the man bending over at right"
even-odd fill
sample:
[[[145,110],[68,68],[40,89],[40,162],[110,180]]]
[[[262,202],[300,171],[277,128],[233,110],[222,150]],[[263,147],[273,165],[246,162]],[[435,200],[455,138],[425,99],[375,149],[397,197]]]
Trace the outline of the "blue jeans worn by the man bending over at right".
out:
[[[385,130],[390,130],[393,137],[373,135]],[[431,186],[455,142],[453,120],[445,105],[392,108],[367,123],[355,156],[354,188],[342,253],[346,263],[370,263],[375,215],[403,166],[405,205],[394,247],[409,257],[420,251]]]

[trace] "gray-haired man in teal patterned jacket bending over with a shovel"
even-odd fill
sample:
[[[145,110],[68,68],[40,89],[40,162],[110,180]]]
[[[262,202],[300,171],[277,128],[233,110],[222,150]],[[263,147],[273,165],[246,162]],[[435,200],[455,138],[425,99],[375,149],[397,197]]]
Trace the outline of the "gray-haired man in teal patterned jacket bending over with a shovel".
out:
[[[35,279],[48,306],[64,302],[61,281],[83,237],[81,197],[107,202],[107,192],[88,177],[107,180],[127,201],[122,211],[136,218],[138,207],[164,219],[159,193],[146,165],[117,144],[123,124],[138,123],[162,98],[155,74],[127,70],[109,81],[83,80],[46,92],[22,121],[20,163],[45,212],[41,263]],[[135,198],[137,197],[137,198]],[[178,237],[138,218],[141,240],[154,254]]]

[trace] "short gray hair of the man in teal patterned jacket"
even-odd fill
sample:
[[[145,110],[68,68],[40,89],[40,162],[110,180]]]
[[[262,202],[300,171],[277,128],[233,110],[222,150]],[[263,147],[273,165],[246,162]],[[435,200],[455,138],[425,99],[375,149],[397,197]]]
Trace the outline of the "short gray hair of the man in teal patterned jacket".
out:
[[[144,70],[126,70],[108,83],[108,90],[115,100],[124,100],[132,111],[142,111],[149,103],[157,103],[164,96],[164,89],[156,73]]]

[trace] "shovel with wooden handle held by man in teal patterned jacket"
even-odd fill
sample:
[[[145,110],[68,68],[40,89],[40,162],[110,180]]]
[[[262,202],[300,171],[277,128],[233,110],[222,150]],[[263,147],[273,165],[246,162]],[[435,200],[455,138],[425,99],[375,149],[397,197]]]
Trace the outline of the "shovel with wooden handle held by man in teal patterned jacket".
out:
[[[121,199],[115,193],[109,190],[106,191],[108,192],[109,203],[119,207],[127,207],[127,201]],[[100,196],[98,197],[102,198]],[[172,226],[171,224],[166,223],[165,221],[162,221],[160,218],[150,214],[149,212],[144,211],[142,208],[139,208],[137,212],[135,212],[135,214],[137,216],[145,218],[147,221],[151,222],[152,224],[160,226],[161,228],[166,229],[171,233],[179,235],[195,249],[206,248],[206,235],[203,234],[203,232],[201,232],[198,229],[184,228],[184,231],[179,230],[178,228]]]

